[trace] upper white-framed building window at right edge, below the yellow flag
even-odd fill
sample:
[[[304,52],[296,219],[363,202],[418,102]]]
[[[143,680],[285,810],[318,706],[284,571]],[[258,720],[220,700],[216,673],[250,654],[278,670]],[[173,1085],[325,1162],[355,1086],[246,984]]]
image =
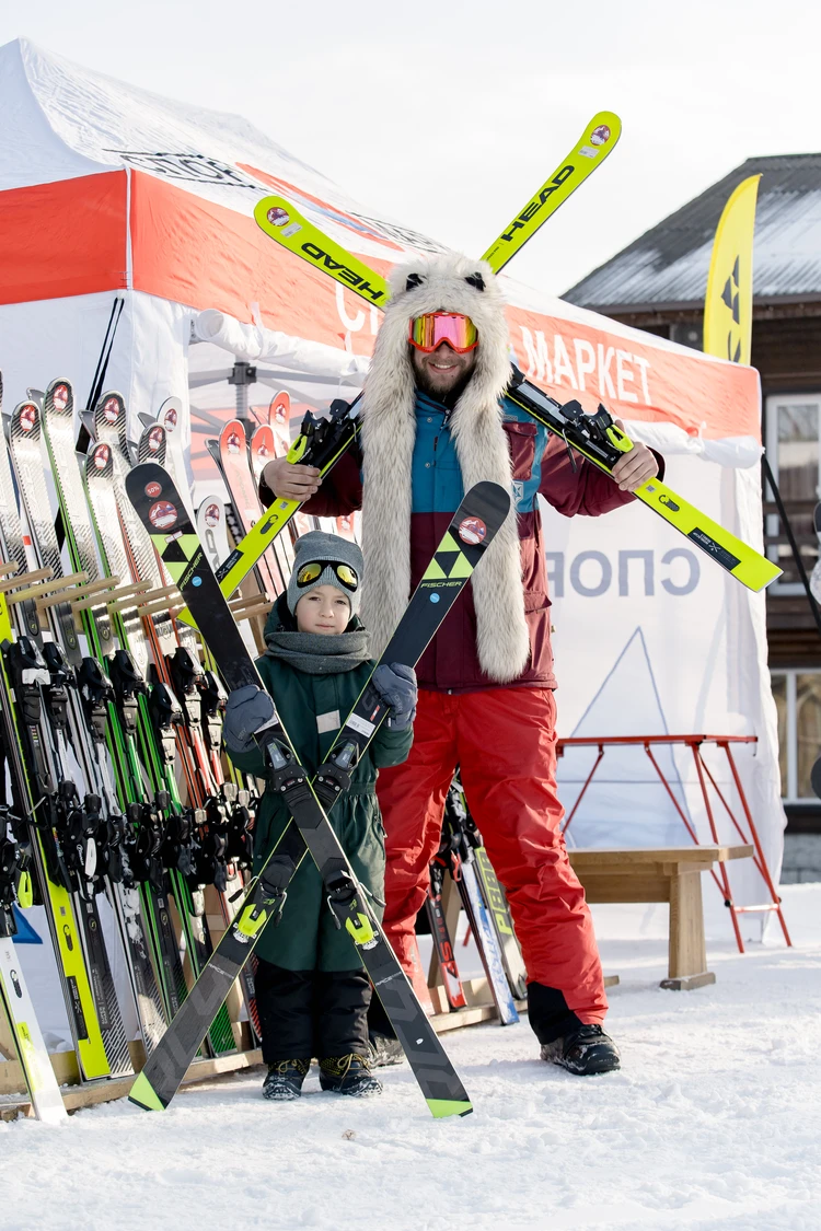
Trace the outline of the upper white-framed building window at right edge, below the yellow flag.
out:
[[[767,398],[766,414],[767,458],[809,575],[819,558],[812,511],[821,499],[821,394],[774,394]],[[784,570],[773,592],[798,595],[801,580],[768,484],[764,485],[764,512],[767,555]]]

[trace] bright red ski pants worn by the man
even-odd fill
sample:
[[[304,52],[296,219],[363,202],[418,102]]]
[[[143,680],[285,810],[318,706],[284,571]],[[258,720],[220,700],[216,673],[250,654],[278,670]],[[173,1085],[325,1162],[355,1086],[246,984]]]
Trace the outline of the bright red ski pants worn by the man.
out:
[[[412,977],[416,913],[458,764],[507,891],[528,981],[561,991],[586,1024],[601,1023],[607,997],[593,923],[560,832],[555,720],[549,688],[420,691],[410,756],[380,769],[377,783],[386,831],[384,928]]]

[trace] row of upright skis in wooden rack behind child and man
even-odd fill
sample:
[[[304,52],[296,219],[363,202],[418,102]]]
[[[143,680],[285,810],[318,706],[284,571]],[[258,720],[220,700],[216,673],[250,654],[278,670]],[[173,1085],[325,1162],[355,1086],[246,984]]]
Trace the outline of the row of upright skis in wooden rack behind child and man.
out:
[[[169,399],[133,443],[122,396],[103,394],[80,416],[82,452],[68,380],[44,394],[30,390],[2,415],[0,996],[10,1033],[0,1014],[0,1051],[14,1045],[42,1119],[65,1113],[12,940],[26,910],[44,908],[80,1081],[96,1082],[134,1071],[142,1059],[134,1040],[151,1055],[251,875],[260,784],[222,756],[225,689],[208,648],[175,618],[177,590],[126,496],[128,473],[146,460],[190,491],[181,410]],[[208,499],[188,513],[214,567],[231,550],[225,523],[236,542],[260,517],[258,476],[270,457],[287,452],[288,427],[279,394],[250,439],[235,420],[208,442],[230,502]],[[252,585],[231,601],[238,620],[265,614],[290,572],[294,538],[318,524],[293,518],[292,533],[274,540]],[[354,534],[351,519],[321,526]],[[247,624],[244,636],[252,648]],[[427,900],[447,1001],[457,1009],[467,997],[448,929],[453,912],[443,906],[446,872],[500,1019],[516,1020],[524,968],[458,782]],[[241,1003],[222,1007],[202,1057],[260,1037],[252,963],[231,995],[245,1012]],[[239,1018],[247,1018],[244,1029]]]

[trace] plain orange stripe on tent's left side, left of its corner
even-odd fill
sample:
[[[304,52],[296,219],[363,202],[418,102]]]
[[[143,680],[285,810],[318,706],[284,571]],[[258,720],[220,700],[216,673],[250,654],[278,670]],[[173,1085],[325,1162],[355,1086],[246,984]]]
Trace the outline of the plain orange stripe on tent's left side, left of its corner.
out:
[[[124,287],[126,199],[126,171],[0,192],[0,303]]]

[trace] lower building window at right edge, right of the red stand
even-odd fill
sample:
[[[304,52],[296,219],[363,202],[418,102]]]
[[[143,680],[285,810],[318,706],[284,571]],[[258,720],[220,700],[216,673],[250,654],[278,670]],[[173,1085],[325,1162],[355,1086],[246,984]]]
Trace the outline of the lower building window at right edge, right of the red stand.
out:
[[[787,804],[817,803],[810,774],[821,757],[821,671],[773,671],[778,758]]]

